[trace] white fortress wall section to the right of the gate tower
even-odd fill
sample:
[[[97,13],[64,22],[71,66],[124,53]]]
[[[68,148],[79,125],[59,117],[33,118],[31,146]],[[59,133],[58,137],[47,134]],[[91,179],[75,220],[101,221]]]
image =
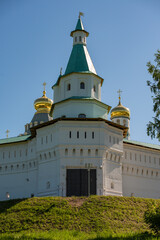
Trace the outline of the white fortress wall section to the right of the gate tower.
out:
[[[124,144],[123,195],[160,198],[160,151]]]

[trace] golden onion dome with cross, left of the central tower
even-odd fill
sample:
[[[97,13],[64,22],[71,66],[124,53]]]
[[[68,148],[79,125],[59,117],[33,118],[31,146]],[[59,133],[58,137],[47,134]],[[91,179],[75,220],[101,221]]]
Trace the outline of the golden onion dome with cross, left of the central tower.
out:
[[[53,104],[53,101],[46,97],[46,91],[45,91],[45,85],[46,83],[43,83],[44,85],[44,91],[43,96],[40,98],[37,98],[34,101],[34,107],[37,110],[36,113],[49,113]]]

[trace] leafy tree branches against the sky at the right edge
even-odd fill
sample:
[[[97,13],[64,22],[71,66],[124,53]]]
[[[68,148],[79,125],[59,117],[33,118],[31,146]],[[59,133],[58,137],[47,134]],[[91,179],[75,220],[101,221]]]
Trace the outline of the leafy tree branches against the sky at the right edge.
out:
[[[147,85],[153,93],[153,111],[155,113],[153,122],[150,121],[147,124],[147,135],[160,141],[160,50],[157,50],[154,61],[155,65],[151,62],[147,63],[148,72],[152,76],[152,81],[147,81]]]

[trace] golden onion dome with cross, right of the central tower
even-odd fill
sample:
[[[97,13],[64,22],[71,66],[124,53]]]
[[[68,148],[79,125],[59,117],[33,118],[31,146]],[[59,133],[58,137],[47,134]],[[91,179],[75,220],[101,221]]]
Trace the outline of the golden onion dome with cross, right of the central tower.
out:
[[[126,117],[130,119],[130,110],[129,108],[126,108],[121,104],[120,97],[119,97],[119,104],[117,105],[117,107],[111,110],[111,120],[113,118],[118,118],[118,117]]]

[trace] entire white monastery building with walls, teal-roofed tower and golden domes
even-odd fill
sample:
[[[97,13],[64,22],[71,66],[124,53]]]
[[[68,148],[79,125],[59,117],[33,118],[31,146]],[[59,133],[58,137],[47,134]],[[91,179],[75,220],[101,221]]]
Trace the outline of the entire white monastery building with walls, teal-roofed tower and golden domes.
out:
[[[103,78],[88,53],[89,33],[80,16],[70,35],[72,52],[52,87],[53,101],[44,89],[25,133],[0,140],[0,200],[160,198],[160,146],[130,140],[130,111],[120,95],[113,109],[101,102]]]

